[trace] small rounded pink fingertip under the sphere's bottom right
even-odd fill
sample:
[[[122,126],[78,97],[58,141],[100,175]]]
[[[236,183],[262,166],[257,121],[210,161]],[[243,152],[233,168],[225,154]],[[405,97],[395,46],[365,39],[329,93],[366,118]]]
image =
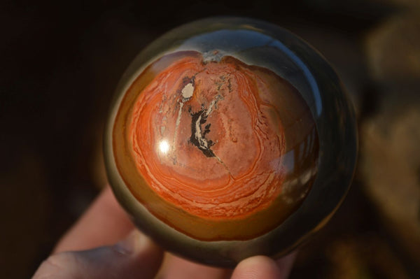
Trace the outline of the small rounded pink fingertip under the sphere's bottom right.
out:
[[[232,274],[232,279],[285,278],[276,262],[266,256],[255,256],[240,262]]]

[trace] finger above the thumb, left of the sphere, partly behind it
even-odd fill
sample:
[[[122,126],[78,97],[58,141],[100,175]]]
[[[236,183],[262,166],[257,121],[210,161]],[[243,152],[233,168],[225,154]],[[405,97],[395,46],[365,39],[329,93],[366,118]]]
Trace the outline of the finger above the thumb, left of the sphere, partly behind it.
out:
[[[133,224],[106,187],[82,217],[63,236],[54,252],[86,250],[111,245],[126,236]]]

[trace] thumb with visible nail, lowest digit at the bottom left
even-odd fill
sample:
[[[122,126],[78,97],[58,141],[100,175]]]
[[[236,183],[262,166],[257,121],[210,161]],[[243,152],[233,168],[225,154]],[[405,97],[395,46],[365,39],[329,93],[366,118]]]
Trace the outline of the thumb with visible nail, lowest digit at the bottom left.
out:
[[[51,255],[33,279],[153,278],[162,262],[162,250],[139,231],[116,245]]]

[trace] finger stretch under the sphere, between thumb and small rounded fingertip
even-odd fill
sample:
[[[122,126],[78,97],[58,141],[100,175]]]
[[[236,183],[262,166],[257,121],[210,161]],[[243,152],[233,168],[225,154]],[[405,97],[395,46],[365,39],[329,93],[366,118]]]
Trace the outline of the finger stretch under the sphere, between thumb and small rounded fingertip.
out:
[[[164,262],[156,279],[225,279],[230,278],[231,274],[232,270],[230,269],[217,269],[216,267],[196,264],[166,253]]]

